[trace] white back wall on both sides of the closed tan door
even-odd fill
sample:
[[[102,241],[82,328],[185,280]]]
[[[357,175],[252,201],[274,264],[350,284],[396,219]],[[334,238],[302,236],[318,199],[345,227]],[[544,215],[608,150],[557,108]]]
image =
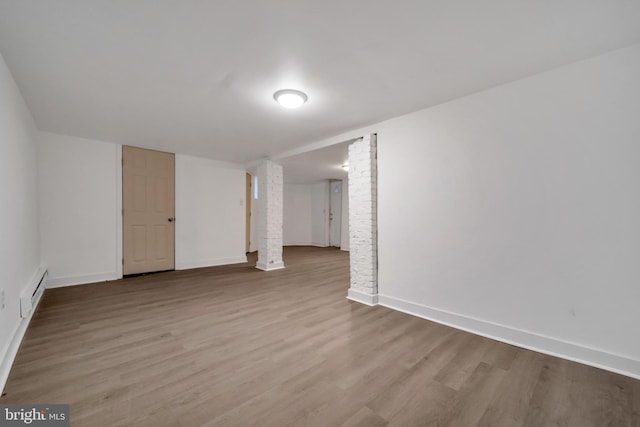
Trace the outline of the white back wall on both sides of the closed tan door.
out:
[[[42,132],[39,152],[48,284],[122,277],[121,146]],[[176,269],[246,260],[245,172],[234,166],[176,155]]]

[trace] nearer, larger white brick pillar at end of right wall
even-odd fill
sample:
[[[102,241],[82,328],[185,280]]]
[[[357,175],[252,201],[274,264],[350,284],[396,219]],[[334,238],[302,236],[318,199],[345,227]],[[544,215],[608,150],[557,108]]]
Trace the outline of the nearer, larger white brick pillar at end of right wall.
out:
[[[349,256],[351,287],[347,298],[378,303],[376,135],[349,145]]]

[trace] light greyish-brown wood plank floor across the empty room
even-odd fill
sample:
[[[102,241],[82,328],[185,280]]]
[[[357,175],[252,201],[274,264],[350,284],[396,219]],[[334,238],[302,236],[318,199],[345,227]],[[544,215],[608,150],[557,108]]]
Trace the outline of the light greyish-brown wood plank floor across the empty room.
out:
[[[348,253],[47,290],[0,403],[72,426],[640,426],[640,381],[345,299]]]

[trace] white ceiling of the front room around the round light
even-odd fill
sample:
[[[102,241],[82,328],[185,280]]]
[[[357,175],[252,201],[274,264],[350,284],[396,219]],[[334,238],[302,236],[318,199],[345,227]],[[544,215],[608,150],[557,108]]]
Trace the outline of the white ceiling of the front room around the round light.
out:
[[[637,0],[0,0],[0,52],[41,130],[244,163],[632,44],[639,22]]]

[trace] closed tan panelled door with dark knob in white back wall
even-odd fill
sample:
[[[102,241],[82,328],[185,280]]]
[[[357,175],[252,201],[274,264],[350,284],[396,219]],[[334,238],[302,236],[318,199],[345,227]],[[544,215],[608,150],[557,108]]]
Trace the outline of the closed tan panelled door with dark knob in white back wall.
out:
[[[123,273],[175,268],[175,155],[122,147]]]

